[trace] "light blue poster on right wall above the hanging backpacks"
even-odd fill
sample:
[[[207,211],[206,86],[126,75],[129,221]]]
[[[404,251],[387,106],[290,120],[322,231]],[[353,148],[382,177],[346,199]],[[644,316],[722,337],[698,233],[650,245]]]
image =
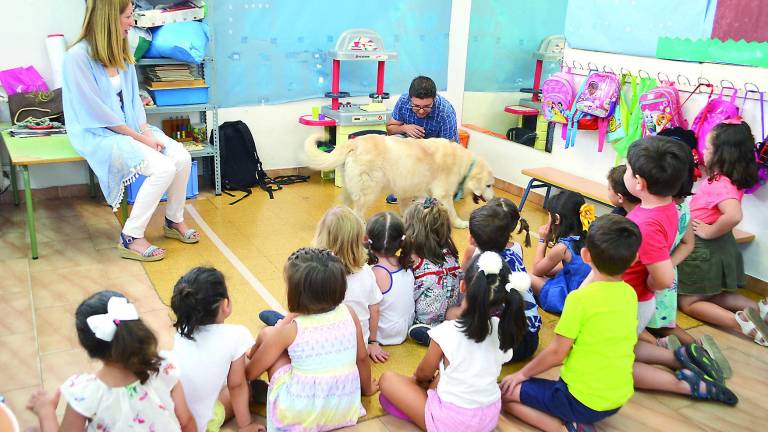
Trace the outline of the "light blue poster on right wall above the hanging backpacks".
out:
[[[656,56],[660,37],[709,38],[716,0],[571,0],[568,46],[643,57]]]

